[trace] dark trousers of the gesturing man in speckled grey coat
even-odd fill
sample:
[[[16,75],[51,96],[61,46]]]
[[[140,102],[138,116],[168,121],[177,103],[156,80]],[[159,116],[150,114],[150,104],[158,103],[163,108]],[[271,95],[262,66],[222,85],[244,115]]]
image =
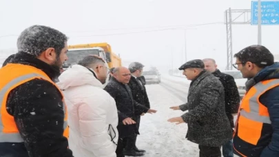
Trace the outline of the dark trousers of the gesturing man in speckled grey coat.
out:
[[[221,147],[209,147],[198,145],[200,157],[221,157]]]

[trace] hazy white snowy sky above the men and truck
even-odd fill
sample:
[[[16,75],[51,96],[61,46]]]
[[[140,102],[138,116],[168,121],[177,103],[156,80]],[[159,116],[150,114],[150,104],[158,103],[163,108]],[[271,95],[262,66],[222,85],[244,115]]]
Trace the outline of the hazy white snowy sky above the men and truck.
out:
[[[30,25],[48,25],[68,44],[107,42],[124,61],[169,68],[185,62],[187,25],[224,22],[224,11],[250,9],[247,0],[0,0],[0,49],[16,48]],[[173,29],[169,29],[173,28]],[[225,24],[187,28],[187,60],[211,57],[226,66]],[[278,26],[262,26],[262,45],[279,54]],[[234,53],[257,44],[256,25],[233,25]],[[7,55],[7,54],[5,54]]]

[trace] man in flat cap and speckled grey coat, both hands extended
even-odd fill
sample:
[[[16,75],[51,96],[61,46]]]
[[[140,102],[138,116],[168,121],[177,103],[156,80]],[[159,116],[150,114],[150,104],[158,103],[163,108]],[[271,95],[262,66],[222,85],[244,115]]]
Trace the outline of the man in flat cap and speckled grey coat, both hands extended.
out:
[[[192,82],[187,103],[170,108],[188,112],[168,121],[187,123],[186,138],[198,144],[200,157],[221,157],[220,147],[232,137],[231,125],[225,112],[223,85],[204,68],[200,59],[188,61],[179,67]]]

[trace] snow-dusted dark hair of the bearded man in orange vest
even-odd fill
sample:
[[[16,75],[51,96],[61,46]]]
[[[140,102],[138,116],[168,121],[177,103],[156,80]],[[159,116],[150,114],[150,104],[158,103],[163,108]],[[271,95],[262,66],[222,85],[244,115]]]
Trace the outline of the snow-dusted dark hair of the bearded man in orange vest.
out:
[[[44,25],[32,25],[19,35],[17,49],[19,52],[39,56],[48,48],[54,48],[59,56],[67,41],[68,37],[58,30]]]

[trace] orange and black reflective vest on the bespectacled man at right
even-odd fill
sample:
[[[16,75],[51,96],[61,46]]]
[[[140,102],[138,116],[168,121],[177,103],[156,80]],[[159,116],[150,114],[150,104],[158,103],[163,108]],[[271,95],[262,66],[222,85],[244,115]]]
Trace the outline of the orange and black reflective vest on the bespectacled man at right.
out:
[[[236,129],[234,151],[240,156],[260,156],[270,142],[272,127],[267,107],[260,103],[260,96],[279,86],[279,79],[261,81],[251,87],[242,98]]]

